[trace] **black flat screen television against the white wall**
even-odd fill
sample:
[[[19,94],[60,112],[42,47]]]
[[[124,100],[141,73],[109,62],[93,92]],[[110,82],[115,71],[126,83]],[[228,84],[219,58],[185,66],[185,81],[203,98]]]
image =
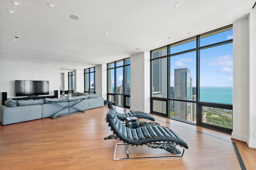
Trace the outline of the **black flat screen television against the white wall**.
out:
[[[49,94],[49,81],[15,80],[16,96],[37,96]]]

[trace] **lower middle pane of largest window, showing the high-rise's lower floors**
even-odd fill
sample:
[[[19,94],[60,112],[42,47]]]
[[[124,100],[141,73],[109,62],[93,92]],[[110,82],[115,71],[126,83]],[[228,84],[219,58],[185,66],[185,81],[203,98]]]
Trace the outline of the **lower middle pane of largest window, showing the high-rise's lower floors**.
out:
[[[196,123],[196,103],[170,101],[170,117]]]

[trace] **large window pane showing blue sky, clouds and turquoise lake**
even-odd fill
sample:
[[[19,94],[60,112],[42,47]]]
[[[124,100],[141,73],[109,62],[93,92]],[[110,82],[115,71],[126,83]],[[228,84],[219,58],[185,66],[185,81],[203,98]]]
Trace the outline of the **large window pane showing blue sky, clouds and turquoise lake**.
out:
[[[233,43],[200,51],[200,101],[233,103]]]

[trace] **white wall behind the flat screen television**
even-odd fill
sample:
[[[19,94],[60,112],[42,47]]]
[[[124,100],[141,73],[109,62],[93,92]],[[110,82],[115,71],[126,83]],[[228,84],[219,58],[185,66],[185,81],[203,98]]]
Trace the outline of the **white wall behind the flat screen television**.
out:
[[[0,92],[7,92],[7,98],[15,97],[14,80],[48,80],[50,95],[54,90],[60,94],[60,68],[0,61],[0,72]]]

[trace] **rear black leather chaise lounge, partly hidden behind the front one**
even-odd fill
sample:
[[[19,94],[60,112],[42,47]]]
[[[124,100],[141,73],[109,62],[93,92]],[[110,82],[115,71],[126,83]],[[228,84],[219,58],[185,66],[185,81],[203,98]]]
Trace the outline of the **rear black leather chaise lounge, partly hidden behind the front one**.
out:
[[[112,102],[108,102],[108,108],[109,109],[114,109],[114,106]],[[148,119],[151,121],[155,121],[154,117],[150,116],[148,113],[142,112],[142,111],[131,111],[129,113],[119,113],[117,112],[117,117],[120,121],[125,121],[126,117],[137,117],[138,119]]]

